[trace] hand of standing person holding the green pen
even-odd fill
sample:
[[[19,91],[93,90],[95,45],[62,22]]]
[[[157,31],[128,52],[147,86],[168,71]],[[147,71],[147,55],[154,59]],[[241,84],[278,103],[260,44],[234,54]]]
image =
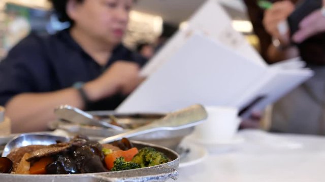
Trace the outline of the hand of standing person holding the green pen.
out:
[[[289,32],[279,32],[279,24],[295,10],[295,5],[290,1],[281,1],[273,4],[272,8],[264,14],[263,25],[266,31],[280,40],[282,44],[289,43]]]

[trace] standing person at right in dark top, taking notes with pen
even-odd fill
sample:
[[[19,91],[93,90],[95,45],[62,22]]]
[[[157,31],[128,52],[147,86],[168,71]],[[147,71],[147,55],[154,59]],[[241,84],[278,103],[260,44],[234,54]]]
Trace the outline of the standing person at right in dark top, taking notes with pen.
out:
[[[257,6],[256,0],[244,2],[260,40],[261,55],[268,63],[301,56],[315,72],[314,77],[274,104],[271,130],[325,134],[325,29],[320,28],[322,25],[311,26],[311,21],[324,21],[325,17],[319,16],[321,7],[300,23],[300,30],[291,38],[289,32],[280,32],[278,25],[295,10],[298,1],[270,1],[273,5],[266,11]],[[302,35],[306,30],[313,33]]]

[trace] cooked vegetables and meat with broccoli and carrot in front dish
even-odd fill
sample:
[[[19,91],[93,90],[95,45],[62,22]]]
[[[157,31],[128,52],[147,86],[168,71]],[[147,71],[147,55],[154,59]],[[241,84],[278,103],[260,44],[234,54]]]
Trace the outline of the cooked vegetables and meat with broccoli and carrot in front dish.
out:
[[[123,139],[118,142],[129,148]],[[153,148],[121,150],[111,144],[75,138],[70,142],[49,146],[27,146],[8,155],[13,159],[16,174],[76,174],[119,171],[147,167],[168,162],[168,158]]]

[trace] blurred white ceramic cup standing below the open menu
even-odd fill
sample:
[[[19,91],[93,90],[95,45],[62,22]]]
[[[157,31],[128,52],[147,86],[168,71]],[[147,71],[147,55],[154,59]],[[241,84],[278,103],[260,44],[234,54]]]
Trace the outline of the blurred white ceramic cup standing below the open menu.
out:
[[[237,133],[240,118],[238,108],[206,106],[208,118],[193,131],[194,139],[202,143],[227,143]]]

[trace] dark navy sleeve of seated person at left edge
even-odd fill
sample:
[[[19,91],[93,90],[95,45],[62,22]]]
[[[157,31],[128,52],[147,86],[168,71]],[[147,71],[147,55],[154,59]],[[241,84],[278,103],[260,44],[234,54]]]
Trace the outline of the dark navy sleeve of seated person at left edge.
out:
[[[0,62],[0,105],[15,95],[40,91],[39,80],[46,79],[43,54],[40,37],[30,34]]]

